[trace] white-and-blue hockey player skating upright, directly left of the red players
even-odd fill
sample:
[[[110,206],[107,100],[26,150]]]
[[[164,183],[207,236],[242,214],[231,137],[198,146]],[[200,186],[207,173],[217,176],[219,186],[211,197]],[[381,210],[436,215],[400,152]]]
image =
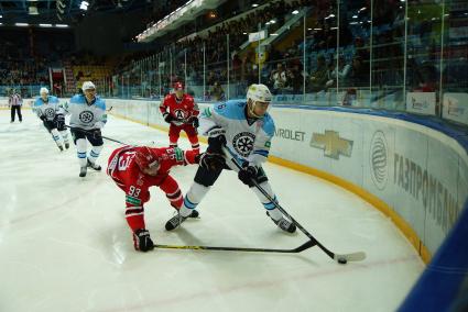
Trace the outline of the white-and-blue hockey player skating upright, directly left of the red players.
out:
[[[107,122],[107,114],[105,101],[96,96],[95,83],[85,81],[81,89],[84,93],[74,96],[64,108],[70,114],[69,125],[78,154],[79,176],[83,178],[86,177],[87,167],[101,170],[96,159],[102,151],[101,129]],[[88,141],[92,147],[87,157]]]

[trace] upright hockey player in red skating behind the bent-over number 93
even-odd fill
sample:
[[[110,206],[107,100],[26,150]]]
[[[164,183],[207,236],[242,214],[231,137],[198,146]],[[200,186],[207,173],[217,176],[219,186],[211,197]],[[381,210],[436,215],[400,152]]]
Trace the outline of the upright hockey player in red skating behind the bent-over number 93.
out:
[[[188,136],[192,149],[199,153],[197,136],[199,110],[194,98],[184,93],[182,82],[174,85],[174,93],[164,98],[160,104],[160,111],[163,114],[164,121],[170,124],[170,146],[177,146],[178,136],[183,130]]]

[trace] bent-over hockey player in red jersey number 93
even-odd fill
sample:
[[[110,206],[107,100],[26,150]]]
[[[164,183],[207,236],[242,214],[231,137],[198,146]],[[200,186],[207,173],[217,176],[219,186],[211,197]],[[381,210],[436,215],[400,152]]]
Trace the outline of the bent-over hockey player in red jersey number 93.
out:
[[[197,164],[199,158],[197,152],[184,152],[178,147],[124,146],[112,152],[107,174],[126,192],[126,219],[132,230],[137,250],[154,248],[144,223],[144,203],[150,200],[149,188],[159,187],[171,205],[178,210],[183,196],[170,170],[173,166]],[[198,211],[194,211],[191,216],[198,216]]]

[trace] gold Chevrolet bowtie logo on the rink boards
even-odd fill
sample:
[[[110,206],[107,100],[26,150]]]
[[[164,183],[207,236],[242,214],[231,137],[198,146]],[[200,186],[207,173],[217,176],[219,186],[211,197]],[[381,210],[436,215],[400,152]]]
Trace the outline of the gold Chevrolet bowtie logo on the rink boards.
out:
[[[339,155],[350,157],[352,153],[352,141],[340,138],[338,132],[326,130],[325,134],[313,133],[312,147],[325,151],[325,156],[339,159]]]

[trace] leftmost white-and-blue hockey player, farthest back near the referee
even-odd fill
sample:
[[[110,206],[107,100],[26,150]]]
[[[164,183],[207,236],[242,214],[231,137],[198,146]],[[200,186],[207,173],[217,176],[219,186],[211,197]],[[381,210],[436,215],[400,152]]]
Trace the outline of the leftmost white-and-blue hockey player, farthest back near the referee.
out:
[[[33,111],[42,120],[44,127],[51,133],[58,149],[68,149],[68,131],[65,126],[64,109],[57,97],[48,96],[47,88],[41,88],[40,97],[34,101]]]

